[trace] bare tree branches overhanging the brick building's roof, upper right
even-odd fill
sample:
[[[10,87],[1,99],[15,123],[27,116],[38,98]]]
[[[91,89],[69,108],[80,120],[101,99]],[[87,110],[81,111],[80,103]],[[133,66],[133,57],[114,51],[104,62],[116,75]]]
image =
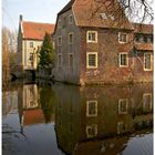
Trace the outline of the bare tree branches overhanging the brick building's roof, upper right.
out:
[[[101,8],[107,13],[115,14],[115,20],[127,17],[132,22],[152,22],[154,20],[153,0],[94,0],[92,18]],[[118,4],[120,3],[120,4]]]

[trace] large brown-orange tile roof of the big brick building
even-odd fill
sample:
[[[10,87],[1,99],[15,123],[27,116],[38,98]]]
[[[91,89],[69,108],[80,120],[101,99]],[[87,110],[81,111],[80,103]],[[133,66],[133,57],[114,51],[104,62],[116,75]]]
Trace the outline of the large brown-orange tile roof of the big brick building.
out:
[[[107,7],[110,8],[107,9]],[[71,0],[60,11],[60,13],[72,9],[74,12],[76,24],[80,27],[116,28],[133,30],[133,25],[130,23],[125,14],[123,14],[122,9],[118,8],[121,7],[117,1],[115,1],[114,3],[112,3],[112,1],[107,1],[103,4],[103,1],[100,2],[95,0]],[[105,13],[106,19],[103,19],[101,17],[101,13]]]

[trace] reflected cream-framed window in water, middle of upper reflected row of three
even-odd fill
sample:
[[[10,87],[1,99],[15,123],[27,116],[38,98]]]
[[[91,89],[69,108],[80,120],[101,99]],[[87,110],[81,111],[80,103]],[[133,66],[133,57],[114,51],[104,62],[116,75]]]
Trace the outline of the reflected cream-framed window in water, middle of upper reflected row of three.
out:
[[[127,114],[128,100],[120,99],[118,100],[118,114]]]

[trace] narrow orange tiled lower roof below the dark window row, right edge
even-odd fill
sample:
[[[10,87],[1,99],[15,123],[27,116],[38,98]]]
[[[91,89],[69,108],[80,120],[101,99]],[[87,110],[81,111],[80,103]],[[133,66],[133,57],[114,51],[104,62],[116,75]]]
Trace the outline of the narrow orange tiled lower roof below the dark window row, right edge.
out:
[[[137,43],[135,44],[136,50],[138,51],[153,51],[154,45],[152,43]]]

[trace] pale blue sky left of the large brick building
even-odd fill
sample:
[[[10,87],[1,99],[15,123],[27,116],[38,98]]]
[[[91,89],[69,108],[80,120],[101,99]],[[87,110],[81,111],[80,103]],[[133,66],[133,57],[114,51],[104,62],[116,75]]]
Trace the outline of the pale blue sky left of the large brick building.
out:
[[[2,0],[2,25],[18,30],[19,16],[25,21],[55,23],[56,13],[70,0]]]

